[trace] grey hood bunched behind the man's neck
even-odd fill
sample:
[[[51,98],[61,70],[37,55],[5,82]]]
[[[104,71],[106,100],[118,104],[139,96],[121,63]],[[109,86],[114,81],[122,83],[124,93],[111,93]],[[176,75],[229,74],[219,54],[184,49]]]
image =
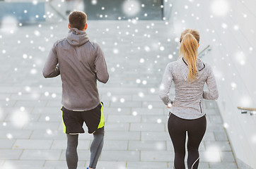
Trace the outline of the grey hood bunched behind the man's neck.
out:
[[[89,41],[87,33],[83,30],[78,30],[77,28],[71,28],[69,30],[68,37],[66,37],[67,42],[72,46],[81,46]]]

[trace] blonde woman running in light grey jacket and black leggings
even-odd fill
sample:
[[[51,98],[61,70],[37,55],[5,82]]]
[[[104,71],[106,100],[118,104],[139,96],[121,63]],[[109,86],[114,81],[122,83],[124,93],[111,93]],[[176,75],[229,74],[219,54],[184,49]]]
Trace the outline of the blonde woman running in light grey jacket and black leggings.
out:
[[[170,108],[168,131],[173,142],[175,169],[185,169],[185,141],[187,141],[187,166],[196,169],[199,165],[199,144],[206,130],[203,99],[216,100],[219,97],[211,66],[197,58],[199,32],[184,30],[180,36],[180,58],[168,63],[163,74],[159,96]],[[175,84],[175,99],[170,100],[170,86]],[[208,91],[204,91],[204,84]]]

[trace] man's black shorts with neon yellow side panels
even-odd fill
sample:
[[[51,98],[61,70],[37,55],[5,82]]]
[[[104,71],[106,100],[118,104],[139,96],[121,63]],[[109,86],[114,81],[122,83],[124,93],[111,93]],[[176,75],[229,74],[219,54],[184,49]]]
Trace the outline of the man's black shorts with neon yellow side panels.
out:
[[[66,134],[84,133],[83,122],[90,134],[104,127],[103,102],[90,111],[69,111],[64,106],[61,110],[63,132]]]

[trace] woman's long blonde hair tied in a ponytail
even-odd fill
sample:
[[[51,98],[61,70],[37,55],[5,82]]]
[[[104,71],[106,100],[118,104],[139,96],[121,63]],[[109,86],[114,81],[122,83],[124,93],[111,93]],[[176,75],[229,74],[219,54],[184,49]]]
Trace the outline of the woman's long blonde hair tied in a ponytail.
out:
[[[196,80],[197,77],[197,49],[199,44],[199,32],[197,30],[187,29],[180,36],[180,55],[187,60],[189,69],[189,81]]]

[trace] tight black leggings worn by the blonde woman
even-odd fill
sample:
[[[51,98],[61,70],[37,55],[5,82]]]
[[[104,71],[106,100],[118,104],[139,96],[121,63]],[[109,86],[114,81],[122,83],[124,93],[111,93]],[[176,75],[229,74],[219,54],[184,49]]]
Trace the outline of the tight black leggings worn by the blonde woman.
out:
[[[187,140],[187,167],[189,169],[197,169],[199,165],[199,144],[201,143],[206,130],[206,118],[205,115],[202,118],[194,120],[186,120],[178,118],[173,113],[170,114],[168,120],[168,131],[170,139],[172,139],[175,159],[175,169],[185,169],[185,142],[186,132],[188,135]]]

